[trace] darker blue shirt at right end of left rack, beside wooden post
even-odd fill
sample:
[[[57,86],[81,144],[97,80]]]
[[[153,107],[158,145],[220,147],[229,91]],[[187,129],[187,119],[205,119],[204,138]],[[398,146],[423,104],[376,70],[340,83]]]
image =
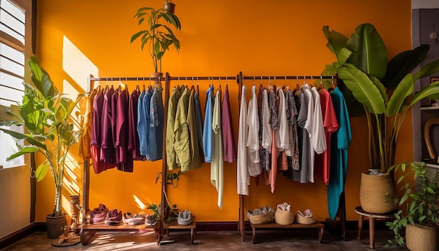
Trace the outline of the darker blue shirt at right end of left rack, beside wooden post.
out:
[[[154,88],[149,104],[149,142],[148,153],[151,161],[158,161],[163,156],[163,99],[162,88]]]

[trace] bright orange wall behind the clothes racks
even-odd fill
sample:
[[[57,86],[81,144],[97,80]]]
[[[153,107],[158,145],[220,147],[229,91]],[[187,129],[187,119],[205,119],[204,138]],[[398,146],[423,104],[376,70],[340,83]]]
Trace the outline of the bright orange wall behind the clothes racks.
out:
[[[133,20],[135,11],[150,2],[39,0],[36,56],[59,88],[63,81],[71,86],[65,89],[68,93],[70,89],[83,93],[90,73],[95,76],[149,76],[149,72],[153,72],[149,55],[140,51],[139,43],[130,45],[130,36],[140,30]],[[161,6],[161,2],[154,1],[153,6]],[[171,50],[164,57],[163,72],[170,72],[171,76],[235,76],[239,71],[246,76],[320,74],[325,64],[335,61],[325,47],[323,25],[349,36],[357,25],[370,22],[383,37],[390,57],[411,46],[408,0],[185,0],[175,1],[175,4],[182,22],[182,31],[177,32],[182,47],[180,54]],[[74,53],[79,55],[75,57]],[[87,65],[94,65],[95,69],[88,69]],[[234,81],[228,82],[231,107],[237,108],[238,86]],[[291,84],[295,85],[295,82]],[[132,90],[135,83],[128,85]],[[200,81],[200,85],[203,92],[208,83]],[[203,95],[201,100],[205,100]],[[237,140],[238,109],[234,111]],[[406,124],[398,156],[412,156],[412,126],[408,120]],[[363,118],[351,119],[353,140],[346,181],[346,211],[351,220],[357,219],[353,208],[359,205],[360,173],[368,168],[364,125]],[[401,159],[398,157],[397,161]],[[66,212],[69,212],[68,196],[82,195],[82,164],[77,160],[76,163],[79,164],[71,165],[63,193]],[[90,207],[104,203],[123,212],[148,212],[142,203],[158,203],[160,199],[160,187],[154,180],[161,164],[161,161],[135,163],[133,173],[117,170],[107,170],[100,175],[92,173]],[[180,186],[169,191],[170,202],[177,203],[180,210],[191,210],[201,222],[238,220],[236,164],[224,165],[222,210],[217,208],[217,193],[210,184],[209,173],[210,165],[207,164],[184,173]],[[53,196],[50,178],[37,184],[37,221],[43,221],[51,212]],[[285,201],[292,204],[293,211],[310,208],[317,219],[328,217],[326,187],[320,180],[315,184],[298,184],[278,175],[273,195],[268,186],[256,187],[252,182],[250,196],[245,197],[246,209],[262,205],[275,207]]]

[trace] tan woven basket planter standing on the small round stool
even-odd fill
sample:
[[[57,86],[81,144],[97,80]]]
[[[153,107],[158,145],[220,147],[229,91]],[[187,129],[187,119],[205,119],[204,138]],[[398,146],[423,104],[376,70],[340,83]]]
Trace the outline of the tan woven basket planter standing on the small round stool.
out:
[[[360,205],[366,212],[386,214],[395,210],[395,187],[389,173],[384,175],[361,174]]]

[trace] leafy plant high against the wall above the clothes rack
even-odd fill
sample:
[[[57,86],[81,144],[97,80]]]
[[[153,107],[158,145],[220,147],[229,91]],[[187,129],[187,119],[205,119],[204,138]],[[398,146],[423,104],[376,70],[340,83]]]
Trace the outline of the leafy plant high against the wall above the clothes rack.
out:
[[[154,9],[151,7],[139,8],[134,18],[137,18],[139,26],[146,20],[148,29],[133,34],[130,43],[140,39],[142,51],[144,46],[148,45],[148,52],[151,55],[155,72],[161,72],[161,59],[166,50],[169,50],[170,46],[174,46],[177,52],[180,50],[180,41],[170,29],[170,25],[172,25],[175,29],[181,30],[180,20],[177,15],[165,11],[163,8]]]

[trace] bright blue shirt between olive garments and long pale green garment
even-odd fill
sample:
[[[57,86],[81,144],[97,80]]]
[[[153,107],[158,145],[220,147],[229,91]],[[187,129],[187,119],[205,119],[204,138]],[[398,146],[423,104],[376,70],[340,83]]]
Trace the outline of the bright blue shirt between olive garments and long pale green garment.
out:
[[[206,92],[205,115],[203,127],[203,151],[206,163],[212,162],[212,118],[213,118],[213,86]]]

